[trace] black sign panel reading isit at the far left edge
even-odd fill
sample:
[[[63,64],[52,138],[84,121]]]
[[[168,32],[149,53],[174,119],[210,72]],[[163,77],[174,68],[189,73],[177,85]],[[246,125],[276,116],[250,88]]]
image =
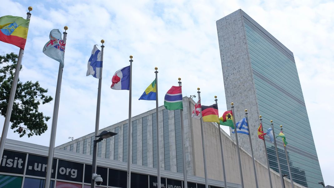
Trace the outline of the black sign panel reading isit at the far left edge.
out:
[[[26,156],[25,153],[4,150],[0,162],[0,172],[23,174]]]

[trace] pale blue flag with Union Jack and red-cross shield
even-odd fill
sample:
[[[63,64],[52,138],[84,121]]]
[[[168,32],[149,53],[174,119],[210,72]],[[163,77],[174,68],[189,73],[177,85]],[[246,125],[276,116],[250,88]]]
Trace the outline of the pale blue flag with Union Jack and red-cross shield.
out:
[[[52,59],[59,61],[62,67],[64,67],[66,42],[61,39],[61,33],[58,29],[52,29],[49,38],[50,40],[43,47],[43,53]]]

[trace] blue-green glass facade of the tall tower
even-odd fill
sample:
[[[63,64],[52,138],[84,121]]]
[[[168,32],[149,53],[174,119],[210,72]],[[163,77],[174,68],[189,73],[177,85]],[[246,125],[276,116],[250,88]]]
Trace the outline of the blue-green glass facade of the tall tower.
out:
[[[277,135],[283,125],[293,180],[319,187],[323,178],[294,56],[247,14],[242,16],[264,129],[273,120]],[[277,142],[283,174],[289,174],[282,140]],[[270,167],[278,172],[275,148],[269,141],[267,150]]]

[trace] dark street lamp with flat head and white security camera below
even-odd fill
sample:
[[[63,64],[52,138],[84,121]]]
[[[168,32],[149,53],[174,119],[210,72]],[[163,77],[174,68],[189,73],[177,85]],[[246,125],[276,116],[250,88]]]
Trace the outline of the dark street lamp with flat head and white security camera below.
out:
[[[100,175],[96,174],[96,160],[97,160],[96,146],[97,146],[97,143],[101,142],[103,139],[110,138],[110,137],[115,136],[115,135],[117,135],[117,133],[110,132],[110,131],[109,132],[108,131],[102,131],[100,133],[100,135],[95,136],[99,139],[94,140],[91,188],[95,188],[95,181],[96,180],[98,180],[97,183],[99,183],[100,185],[102,183],[102,178],[100,177]]]

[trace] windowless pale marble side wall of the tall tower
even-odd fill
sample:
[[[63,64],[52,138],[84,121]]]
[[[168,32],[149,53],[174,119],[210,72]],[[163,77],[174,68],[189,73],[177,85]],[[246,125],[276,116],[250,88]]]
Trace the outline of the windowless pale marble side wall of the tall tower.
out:
[[[267,164],[263,141],[257,135],[260,114],[241,13],[242,10],[239,9],[216,21],[226,106],[230,110],[231,102],[234,103],[236,122],[244,118],[244,110],[248,110],[248,126],[251,130],[254,156]],[[235,139],[232,133],[231,137]],[[238,134],[238,141],[244,149],[251,153],[248,135]]]

